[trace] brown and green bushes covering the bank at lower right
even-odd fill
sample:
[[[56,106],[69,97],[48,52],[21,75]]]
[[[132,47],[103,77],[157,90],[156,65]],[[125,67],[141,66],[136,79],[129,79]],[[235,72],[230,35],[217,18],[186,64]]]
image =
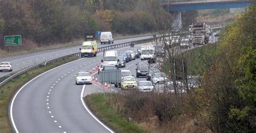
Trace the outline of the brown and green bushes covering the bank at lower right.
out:
[[[256,132],[255,14],[254,4],[221,31],[215,45],[181,56],[191,60],[186,64],[188,72],[200,75],[198,87],[186,93],[126,91],[103,103],[112,109],[112,115],[133,120],[151,132]],[[177,55],[169,55],[169,59],[177,60]],[[172,67],[173,61],[170,64],[170,77],[176,79],[172,71],[176,67]]]

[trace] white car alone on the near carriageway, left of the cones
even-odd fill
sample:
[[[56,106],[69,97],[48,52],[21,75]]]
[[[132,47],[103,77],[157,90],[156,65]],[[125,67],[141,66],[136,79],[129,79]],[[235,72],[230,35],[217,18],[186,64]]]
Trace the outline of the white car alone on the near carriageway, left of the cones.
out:
[[[92,76],[88,71],[78,71],[76,77],[76,84],[92,84]]]

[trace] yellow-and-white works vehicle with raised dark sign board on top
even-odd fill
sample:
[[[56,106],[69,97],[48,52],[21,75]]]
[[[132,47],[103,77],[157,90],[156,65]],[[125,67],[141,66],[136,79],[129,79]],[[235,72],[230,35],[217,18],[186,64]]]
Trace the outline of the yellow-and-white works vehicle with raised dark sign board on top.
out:
[[[95,40],[95,33],[84,33],[84,40],[82,47],[79,48],[81,57],[97,56],[98,47]]]

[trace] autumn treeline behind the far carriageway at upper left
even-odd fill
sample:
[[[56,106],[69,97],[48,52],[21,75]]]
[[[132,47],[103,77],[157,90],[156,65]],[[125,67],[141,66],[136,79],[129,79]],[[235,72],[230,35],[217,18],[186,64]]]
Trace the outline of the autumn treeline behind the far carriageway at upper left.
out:
[[[151,15],[142,1],[24,0],[0,2],[1,48],[4,35],[22,35],[41,46],[83,38],[84,32],[151,32]]]

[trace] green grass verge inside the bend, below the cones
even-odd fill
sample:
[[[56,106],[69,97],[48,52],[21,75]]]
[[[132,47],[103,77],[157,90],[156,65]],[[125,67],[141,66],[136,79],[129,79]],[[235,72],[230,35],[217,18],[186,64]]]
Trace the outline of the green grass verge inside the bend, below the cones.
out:
[[[114,109],[104,101],[104,94],[91,94],[84,99],[92,112],[113,130],[117,132],[148,132],[139,127],[136,122],[127,121],[125,117],[117,115]],[[106,99],[110,99],[110,94],[106,94]]]

